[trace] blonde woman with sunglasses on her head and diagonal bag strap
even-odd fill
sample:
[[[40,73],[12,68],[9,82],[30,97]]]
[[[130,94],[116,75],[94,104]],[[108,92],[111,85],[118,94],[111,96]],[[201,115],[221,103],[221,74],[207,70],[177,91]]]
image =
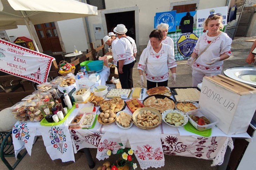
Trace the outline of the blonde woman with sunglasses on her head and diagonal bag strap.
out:
[[[211,14],[204,21],[204,30],[208,31],[198,38],[194,51],[187,61],[193,69],[193,87],[201,83],[204,76],[221,74],[223,60],[231,56],[232,39],[220,30],[222,28],[220,13]]]

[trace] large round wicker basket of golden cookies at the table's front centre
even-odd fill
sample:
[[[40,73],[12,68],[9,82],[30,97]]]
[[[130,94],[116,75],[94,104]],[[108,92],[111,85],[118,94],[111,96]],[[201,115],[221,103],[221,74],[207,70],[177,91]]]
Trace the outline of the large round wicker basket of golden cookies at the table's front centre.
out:
[[[153,129],[162,123],[162,115],[153,108],[140,108],[133,113],[133,123],[142,129]]]

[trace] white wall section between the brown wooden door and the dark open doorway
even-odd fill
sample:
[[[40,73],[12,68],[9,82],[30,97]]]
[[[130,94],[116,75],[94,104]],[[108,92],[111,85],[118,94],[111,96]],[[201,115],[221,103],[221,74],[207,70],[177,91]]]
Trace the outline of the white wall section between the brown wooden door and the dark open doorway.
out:
[[[78,51],[88,49],[84,18],[58,21],[58,25],[67,53],[74,52],[74,45]]]

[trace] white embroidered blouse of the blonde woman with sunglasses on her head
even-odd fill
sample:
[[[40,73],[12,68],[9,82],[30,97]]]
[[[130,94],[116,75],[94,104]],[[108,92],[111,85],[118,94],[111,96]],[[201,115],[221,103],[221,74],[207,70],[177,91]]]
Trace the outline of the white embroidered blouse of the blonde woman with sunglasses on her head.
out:
[[[194,51],[197,55],[200,54],[207,45],[215,37],[209,37],[207,33],[204,33],[197,40]],[[222,54],[228,54],[231,56],[231,43],[232,39],[224,32],[214,40],[213,43],[199,56],[193,63],[192,68],[204,73],[218,73],[221,72],[223,61],[217,61],[213,65],[207,65],[206,63],[211,62],[211,59],[220,57]]]

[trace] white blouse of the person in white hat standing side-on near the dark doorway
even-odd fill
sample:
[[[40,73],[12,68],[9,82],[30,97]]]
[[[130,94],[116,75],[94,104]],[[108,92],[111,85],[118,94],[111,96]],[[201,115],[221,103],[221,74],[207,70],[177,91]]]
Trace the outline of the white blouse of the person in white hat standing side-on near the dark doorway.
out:
[[[123,65],[130,64],[135,61],[133,54],[137,53],[137,47],[134,39],[131,37],[127,38],[120,38],[115,45],[117,60],[124,60]],[[132,44],[130,42],[132,42]]]

